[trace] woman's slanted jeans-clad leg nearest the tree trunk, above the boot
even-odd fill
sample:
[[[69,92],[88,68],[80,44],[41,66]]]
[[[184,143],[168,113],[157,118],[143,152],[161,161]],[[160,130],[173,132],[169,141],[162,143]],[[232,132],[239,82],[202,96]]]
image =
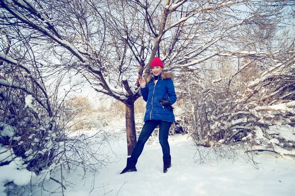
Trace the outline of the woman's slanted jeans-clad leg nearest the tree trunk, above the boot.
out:
[[[147,120],[143,126],[143,129],[139,135],[139,138],[137,140],[137,143],[133,149],[133,152],[131,154],[131,159],[137,160],[138,157],[143,152],[145,143],[147,142],[149,136],[153,132],[153,130],[157,127],[159,124],[159,120]]]

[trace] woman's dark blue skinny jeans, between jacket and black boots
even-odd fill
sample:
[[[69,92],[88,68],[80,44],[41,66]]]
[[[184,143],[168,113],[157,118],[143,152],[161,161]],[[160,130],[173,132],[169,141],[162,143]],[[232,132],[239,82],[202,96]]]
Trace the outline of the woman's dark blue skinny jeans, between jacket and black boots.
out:
[[[168,143],[168,133],[169,133],[169,128],[171,126],[171,122],[163,121],[163,120],[147,120],[143,126],[143,129],[140,133],[137,143],[133,149],[132,155],[130,157],[131,159],[139,158],[149,136],[158,125],[159,125],[159,141],[162,147],[163,157],[165,159],[170,158],[170,146]]]

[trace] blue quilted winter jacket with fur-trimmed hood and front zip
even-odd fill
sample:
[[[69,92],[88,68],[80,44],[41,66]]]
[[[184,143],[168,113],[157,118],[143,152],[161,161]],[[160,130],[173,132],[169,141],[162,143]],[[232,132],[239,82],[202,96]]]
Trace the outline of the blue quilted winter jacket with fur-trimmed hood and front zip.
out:
[[[176,100],[176,93],[173,84],[173,75],[168,72],[162,72],[158,78],[158,82],[154,83],[154,75],[151,74],[147,78],[147,86],[141,88],[143,99],[147,102],[147,111],[144,121],[146,120],[165,120],[175,123],[173,110],[168,107],[162,107],[159,99],[166,97],[173,105]]]

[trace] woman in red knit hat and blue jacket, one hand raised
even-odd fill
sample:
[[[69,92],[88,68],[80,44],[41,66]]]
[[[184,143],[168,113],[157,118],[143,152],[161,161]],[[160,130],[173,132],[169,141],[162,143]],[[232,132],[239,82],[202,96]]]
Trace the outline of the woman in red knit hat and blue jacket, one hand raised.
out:
[[[171,167],[168,134],[171,123],[175,123],[172,105],[177,100],[173,84],[173,75],[168,72],[163,72],[164,65],[162,60],[158,57],[154,57],[150,68],[152,74],[148,76],[147,82],[142,77],[139,80],[143,99],[147,102],[147,111],[144,117],[145,124],[131,157],[127,158],[127,166],[120,174],[137,171],[135,167],[137,160],[149,136],[158,125],[159,141],[163,151],[163,172],[166,173],[168,168]]]

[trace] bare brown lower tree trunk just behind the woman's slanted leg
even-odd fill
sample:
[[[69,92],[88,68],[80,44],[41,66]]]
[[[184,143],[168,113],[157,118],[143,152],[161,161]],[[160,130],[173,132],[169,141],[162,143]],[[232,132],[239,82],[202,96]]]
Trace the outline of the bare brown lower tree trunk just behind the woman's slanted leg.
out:
[[[128,103],[126,106],[126,135],[127,135],[127,153],[128,156],[132,154],[136,144],[136,130],[134,119],[134,102]]]

